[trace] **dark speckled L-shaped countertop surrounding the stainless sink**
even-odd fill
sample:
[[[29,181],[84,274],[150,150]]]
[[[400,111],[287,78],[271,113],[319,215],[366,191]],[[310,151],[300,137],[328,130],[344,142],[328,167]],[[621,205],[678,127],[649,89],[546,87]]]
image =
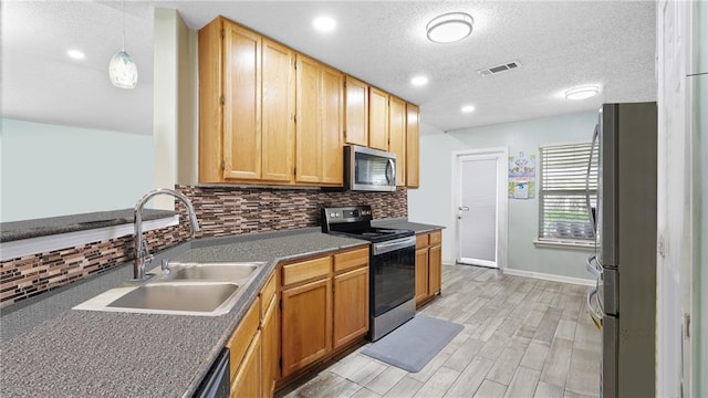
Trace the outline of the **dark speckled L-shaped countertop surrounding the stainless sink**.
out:
[[[319,228],[204,239],[157,253],[179,261],[267,261],[230,313],[179,316],[70,310],[125,284],[132,264],[3,308],[0,396],[191,396],[278,262],[368,244]],[[7,312],[7,314],[4,313]],[[33,322],[28,318],[35,317]]]

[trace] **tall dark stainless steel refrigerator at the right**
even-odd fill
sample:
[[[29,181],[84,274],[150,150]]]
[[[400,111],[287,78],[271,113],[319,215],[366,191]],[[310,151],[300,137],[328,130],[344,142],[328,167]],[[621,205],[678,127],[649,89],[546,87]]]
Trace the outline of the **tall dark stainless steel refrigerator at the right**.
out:
[[[603,105],[593,146],[598,155],[596,209],[591,212],[596,244],[587,270],[597,285],[587,305],[602,329],[601,394],[654,397],[656,103]],[[595,198],[589,192],[587,199]]]

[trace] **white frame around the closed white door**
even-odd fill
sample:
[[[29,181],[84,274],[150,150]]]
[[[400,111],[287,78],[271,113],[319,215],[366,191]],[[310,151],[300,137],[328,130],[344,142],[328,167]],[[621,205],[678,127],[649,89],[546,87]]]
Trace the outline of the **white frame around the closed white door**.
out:
[[[507,268],[508,259],[508,241],[509,241],[509,182],[508,182],[508,164],[509,164],[509,148],[508,147],[491,147],[481,149],[466,149],[452,151],[451,157],[451,170],[452,170],[452,198],[451,198],[451,212],[450,212],[450,226],[454,226],[455,239],[452,240],[454,247],[454,261],[460,259],[460,226],[457,222],[457,212],[460,206],[460,158],[469,155],[489,156],[497,155],[500,158],[497,176],[498,176],[498,200],[497,200],[497,269],[503,270]]]

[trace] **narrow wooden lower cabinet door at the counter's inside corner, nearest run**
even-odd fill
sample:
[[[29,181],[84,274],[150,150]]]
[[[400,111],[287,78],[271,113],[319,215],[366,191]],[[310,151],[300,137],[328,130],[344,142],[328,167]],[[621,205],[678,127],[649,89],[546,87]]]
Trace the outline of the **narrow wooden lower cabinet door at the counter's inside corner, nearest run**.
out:
[[[270,305],[263,313],[261,322],[261,336],[263,339],[261,350],[261,391],[263,398],[272,397],[275,380],[279,377],[278,362],[280,359],[280,327],[278,313],[278,296],[273,296]]]

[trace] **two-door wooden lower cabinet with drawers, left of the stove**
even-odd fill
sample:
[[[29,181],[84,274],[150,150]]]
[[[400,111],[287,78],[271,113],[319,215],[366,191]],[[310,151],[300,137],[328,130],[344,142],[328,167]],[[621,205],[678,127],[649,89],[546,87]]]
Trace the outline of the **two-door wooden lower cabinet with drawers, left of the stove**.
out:
[[[368,332],[368,247],[284,264],[282,283],[281,376],[289,383]]]

